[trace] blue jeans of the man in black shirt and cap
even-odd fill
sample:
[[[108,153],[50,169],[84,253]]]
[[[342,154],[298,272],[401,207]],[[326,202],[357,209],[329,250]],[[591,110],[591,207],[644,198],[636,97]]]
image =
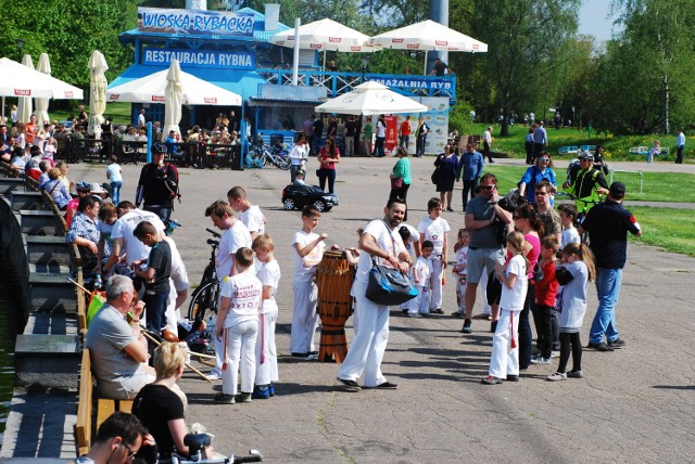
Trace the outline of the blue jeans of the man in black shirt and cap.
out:
[[[596,269],[596,293],[598,294],[598,309],[589,332],[589,341],[602,343],[604,335],[608,341],[618,338],[616,328],[616,306],[620,295],[622,269]]]

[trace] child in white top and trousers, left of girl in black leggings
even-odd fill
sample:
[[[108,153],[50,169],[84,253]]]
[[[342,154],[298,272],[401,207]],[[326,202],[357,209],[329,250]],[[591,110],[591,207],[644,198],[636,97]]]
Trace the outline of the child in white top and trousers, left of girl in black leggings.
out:
[[[482,379],[485,385],[502,384],[502,379],[519,381],[519,313],[523,309],[529,281],[529,260],[523,255],[523,234],[510,232],[507,249],[511,258],[504,265],[495,265],[495,274],[502,282],[500,298],[500,320],[492,338],[489,375]]]

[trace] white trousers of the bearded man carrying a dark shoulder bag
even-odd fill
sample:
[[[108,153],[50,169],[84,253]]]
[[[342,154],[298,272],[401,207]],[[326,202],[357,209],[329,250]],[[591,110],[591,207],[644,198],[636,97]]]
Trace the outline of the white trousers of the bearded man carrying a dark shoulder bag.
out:
[[[381,360],[389,341],[389,307],[368,300],[366,291],[366,283],[355,281],[352,292],[355,295],[355,337],[338,376],[357,381],[364,373],[364,385],[376,387],[387,382],[381,373]]]

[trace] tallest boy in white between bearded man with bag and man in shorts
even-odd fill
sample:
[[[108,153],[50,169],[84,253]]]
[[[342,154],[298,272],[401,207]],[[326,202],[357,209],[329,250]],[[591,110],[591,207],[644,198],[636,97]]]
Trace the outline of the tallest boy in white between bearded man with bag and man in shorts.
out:
[[[448,222],[441,218],[442,201],[430,198],[427,202],[428,216],[420,221],[417,231],[420,233],[420,243],[429,240],[434,245],[432,253],[432,296],[430,300],[431,312],[443,314],[442,310],[442,275],[446,268],[446,249],[448,248]]]

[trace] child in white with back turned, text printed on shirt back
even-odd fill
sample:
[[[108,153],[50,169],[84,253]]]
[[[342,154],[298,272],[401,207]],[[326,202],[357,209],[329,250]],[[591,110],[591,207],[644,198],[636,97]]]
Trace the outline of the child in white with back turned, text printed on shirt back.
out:
[[[253,252],[239,248],[235,253],[236,273],[223,283],[219,293],[222,301],[217,312],[215,338],[225,344],[222,366],[222,392],[214,401],[233,404],[241,363],[240,402],[251,401],[253,382],[256,377],[256,336],[258,334],[258,311],[263,285],[251,272]]]

